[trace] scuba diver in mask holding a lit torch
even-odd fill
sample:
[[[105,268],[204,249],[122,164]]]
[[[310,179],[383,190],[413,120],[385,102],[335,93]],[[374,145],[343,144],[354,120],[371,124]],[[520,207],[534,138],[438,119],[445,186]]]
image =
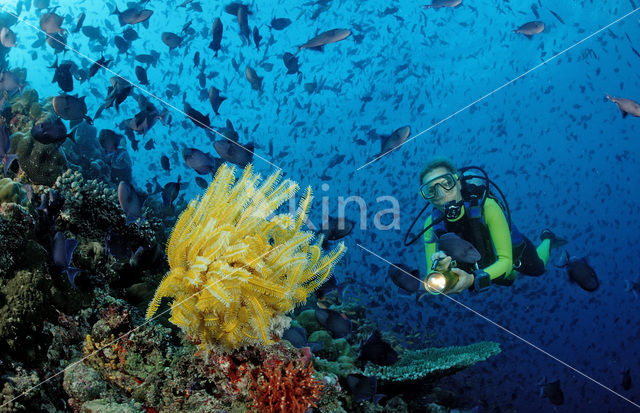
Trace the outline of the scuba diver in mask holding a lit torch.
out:
[[[470,170],[477,170],[481,175],[470,175]],[[433,211],[420,234],[407,243],[409,232],[420,215],[416,217],[405,236],[405,245],[424,234],[427,269],[430,269],[424,285],[432,294],[455,294],[466,289],[484,291],[491,284],[509,286],[517,272],[542,275],[551,249],[566,244],[564,239],[545,229],[540,234],[541,243],[535,247],[511,224],[502,191],[482,168],[470,166],[457,170],[450,161],[437,159],[422,170],[420,183],[420,193],[428,201],[420,215],[429,203]],[[494,195],[491,185],[501,199]],[[448,237],[444,237],[445,234]],[[444,243],[445,238],[451,240],[451,236],[454,248],[450,249],[458,252],[439,250],[446,249],[440,245],[440,238]],[[474,252],[473,262],[464,259],[463,252],[469,248]]]

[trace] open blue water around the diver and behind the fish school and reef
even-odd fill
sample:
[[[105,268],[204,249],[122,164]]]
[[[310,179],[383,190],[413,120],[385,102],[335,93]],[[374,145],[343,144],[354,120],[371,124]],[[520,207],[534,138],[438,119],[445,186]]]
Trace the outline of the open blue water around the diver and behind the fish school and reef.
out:
[[[345,239],[349,251],[336,269],[339,280],[357,281],[348,289],[348,299],[369,306],[370,318],[382,329],[399,330],[398,325],[405,324],[400,339],[413,348],[482,340],[501,343],[500,355],[442,380],[441,387],[463,393],[471,404],[485,400],[499,411],[638,410],[619,395],[640,403],[640,300],[624,291],[625,280],[636,279],[640,266],[640,120],[623,119],[604,97],[609,93],[640,99],[640,56],[632,50],[640,50],[640,13],[588,36],[640,4],[485,0],[464,1],[456,9],[423,10],[423,3],[414,1],[339,1],[312,19],[319,5],[263,1],[250,6],[249,25],[257,26],[264,37],[257,51],[253,45],[243,45],[236,19],[224,13],[222,4],[206,3],[198,13],[177,8],[179,2],[151,1],[150,26],[136,26],[141,39],[133,42],[129,57],[118,56],[111,41],[121,32],[116,17],[108,16],[113,2],[52,4],[59,6],[57,13],[68,16],[63,27],[73,28],[76,16],[85,11],[84,25],[100,27],[110,39],[103,50],[81,33],[70,33],[69,45],[75,51],[68,51],[64,59],[88,67],[91,62],[81,54],[97,60],[104,53],[116,59],[111,65],[114,72],[135,82],[138,63],[132,56],[151,49],[161,53],[158,66],[148,69],[151,85],[146,91],[159,98],[153,100],[157,107],[172,110],[173,126],[155,125],[142,139],[140,150],[130,150],[138,186],[154,176],[164,184],[181,175],[191,182],[183,192],[185,199],[200,192],[193,183],[195,172],[187,169],[171,142],[214,153],[211,141],[175,110],[183,108],[182,97],[167,99],[164,93],[168,84],[177,84],[195,109],[212,113],[208,102],[198,98],[198,70],[192,58],[200,51],[206,73],[218,72],[207,80],[206,88],[216,86],[228,97],[212,124],[223,126],[229,118],[240,132],[240,142],[256,142],[257,170],[268,174],[279,167],[302,187],[311,185],[316,196],[313,222],[320,222],[323,200],[332,215],[337,214],[339,197],[359,196],[366,204],[366,219],[360,218],[356,204],[346,207],[347,217],[359,224]],[[534,4],[546,30],[532,39],[512,33],[537,20]],[[392,6],[398,10],[382,15]],[[15,2],[5,1],[3,7],[14,11]],[[122,10],[125,4],[118,7]],[[218,58],[206,47],[215,17],[224,24]],[[273,17],[289,17],[293,23],[270,33],[267,24]],[[37,56],[32,56],[30,45],[37,39],[32,26],[38,27],[38,17],[32,8],[20,18],[24,22],[12,27],[19,46],[9,53],[10,67],[27,67],[29,86],[41,97],[57,95],[57,85],[50,83],[53,72],[47,68],[55,60],[51,49],[35,50]],[[169,53],[160,33],[179,33],[188,21],[196,35]],[[295,52],[317,32],[336,27],[349,28],[354,35],[328,45],[323,53],[298,52],[300,83],[296,76],[285,75],[284,52]],[[274,43],[265,54],[271,35]],[[357,42],[359,35],[364,37]],[[240,63],[238,72],[232,58]],[[265,63],[273,69],[268,71]],[[262,95],[250,89],[244,77],[246,65],[264,76]],[[102,70],[89,82],[76,82],[72,93],[87,96],[90,116],[102,102],[111,76]],[[304,84],[314,80],[324,86],[308,93]],[[365,96],[372,101],[361,110]],[[115,129],[115,123],[137,110],[129,98],[119,114],[109,109],[95,125]],[[293,126],[296,122],[302,123]],[[369,140],[368,132],[389,134],[406,124],[412,128],[410,141],[364,166],[380,151],[379,142]],[[144,150],[151,137],[155,149]],[[359,139],[366,144],[359,144]],[[273,156],[268,152],[270,142]],[[172,160],[171,174],[160,168],[162,154]],[[346,155],[344,161],[326,170],[336,154]],[[521,277],[510,288],[451,297],[469,309],[445,297],[424,297],[416,304],[413,298],[397,295],[386,279],[384,260],[425,273],[422,245],[405,248],[401,242],[424,205],[418,195],[418,174],[434,156],[451,157],[458,166],[483,166],[507,195],[518,228],[534,242],[545,227],[569,238],[567,250],[587,257],[599,275],[600,288],[589,293],[570,283],[565,271],[553,265],[559,259],[556,253],[542,277]],[[323,174],[330,179],[321,181]],[[328,187],[323,189],[323,182]],[[376,213],[393,207],[389,201],[377,202],[378,197],[397,200],[399,229],[375,228]],[[391,218],[388,214],[383,222]],[[383,288],[376,292],[376,287]],[[371,305],[378,303],[383,305]],[[621,387],[623,368],[631,369],[635,381],[628,391]],[[539,397],[536,383],[543,376],[560,379],[564,405],[554,407]]]

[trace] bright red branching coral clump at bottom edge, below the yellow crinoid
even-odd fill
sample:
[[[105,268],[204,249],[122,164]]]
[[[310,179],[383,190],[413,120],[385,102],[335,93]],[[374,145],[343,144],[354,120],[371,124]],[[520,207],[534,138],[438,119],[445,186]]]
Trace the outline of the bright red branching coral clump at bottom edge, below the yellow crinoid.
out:
[[[322,392],[322,381],[313,377],[311,364],[267,360],[251,389],[254,407],[263,413],[303,413],[316,402]]]

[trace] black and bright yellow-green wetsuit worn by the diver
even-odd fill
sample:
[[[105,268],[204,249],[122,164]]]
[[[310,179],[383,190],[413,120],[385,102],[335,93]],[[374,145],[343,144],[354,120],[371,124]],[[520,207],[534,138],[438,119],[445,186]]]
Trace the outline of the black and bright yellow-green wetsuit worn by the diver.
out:
[[[507,219],[502,208],[494,199],[487,198],[485,200],[482,214],[483,223],[472,223],[477,219],[469,218],[463,207],[458,218],[445,219],[444,225],[434,226],[424,233],[427,270],[430,270],[431,256],[437,250],[437,239],[434,235],[441,236],[445,232],[455,232],[461,238],[471,242],[480,252],[482,258],[478,265],[480,269],[489,274],[492,283],[504,285],[513,283],[516,275],[516,269],[513,265],[514,257],[516,257],[518,271],[527,275],[544,273],[544,267],[549,260],[551,246],[549,239],[545,239],[537,248],[534,248],[529,239],[518,233],[520,242],[514,246]],[[431,225],[432,219],[433,214],[427,217],[424,228]],[[525,263],[525,261],[527,262]],[[459,264],[459,267],[469,273],[473,271],[472,266],[465,268],[463,264]]]

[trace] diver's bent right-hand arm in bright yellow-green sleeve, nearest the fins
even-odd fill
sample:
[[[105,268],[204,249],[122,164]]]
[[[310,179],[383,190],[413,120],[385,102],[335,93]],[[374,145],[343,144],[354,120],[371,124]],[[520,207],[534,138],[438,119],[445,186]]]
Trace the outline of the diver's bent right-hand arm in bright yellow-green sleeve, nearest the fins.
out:
[[[484,220],[491,234],[491,241],[496,250],[498,259],[493,264],[484,268],[491,279],[504,274],[509,274],[513,269],[513,252],[511,249],[511,231],[504,216],[504,212],[498,203],[487,198],[484,203]]]

